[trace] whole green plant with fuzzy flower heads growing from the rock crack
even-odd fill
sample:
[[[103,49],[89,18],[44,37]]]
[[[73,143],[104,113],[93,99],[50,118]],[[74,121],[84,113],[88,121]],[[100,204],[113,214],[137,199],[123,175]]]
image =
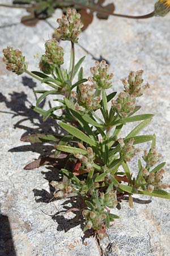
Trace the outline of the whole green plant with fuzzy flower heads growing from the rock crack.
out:
[[[99,238],[103,238],[110,222],[118,218],[111,209],[124,195],[129,196],[130,207],[133,207],[133,194],[170,199],[170,193],[163,190],[170,185],[162,181],[165,162],[159,163],[162,156],[156,151],[155,134],[139,135],[153,117],[152,114],[136,114],[141,108],[137,105],[137,98],[149,88],[149,84],[143,85],[142,70],[130,72],[128,79],[122,79],[124,91],[114,100],[117,93],[106,92],[112,86],[113,74],[109,73],[104,60],[96,61],[88,79],[84,79],[81,67],[84,57],[75,64],[74,44],[78,42],[83,26],[80,14],[75,9],[67,9],[67,14],[57,21],[57,34],[62,40],[71,42],[68,70],[62,68],[64,51],[56,39],[45,43],[45,54],[40,60],[41,72],[27,71],[22,53],[11,47],[3,50],[3,61],[7,69],[17,75],[26,72],[52,88],[35,91],[41,96],[32,108],[42,114],[44,120],[49,117],[56,119],[66,135],[36,134],[22,140],[58,142],[55,158],[57,162],[64,152],[65,163],[61,171],[65,179],[60,183],[50,183],[56,190],[54,197],[81,197],[84,231],[93,229]],[[63,97],[54,98],[57,106],[48,110],[40,108],[45,97],[58,94]],[[121,130],[130,122],[139,123],[121,138]],[[134,170],[130,171],[129,162],[143,151],[135,146],[145,142],[151,142],[151,147],[149,151],[144,150],[143,159],[139,158],[136,175]]]

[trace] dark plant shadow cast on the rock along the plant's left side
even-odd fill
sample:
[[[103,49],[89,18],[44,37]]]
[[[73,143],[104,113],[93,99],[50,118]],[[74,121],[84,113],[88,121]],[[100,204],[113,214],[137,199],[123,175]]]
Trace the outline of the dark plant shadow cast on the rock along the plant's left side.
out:
[[[29,89],[34,89],[36,87],[36,83],[33,82],[32,79],[28,79],[27,77],[23,77],[23,84],[28,86]],[[0,102],[4,102],[6,108],[10,110],[9,113],[12,115],[12,118],[21,117],[19,121],[17,121],[14,125],[15,129],[22,129],[24,133],[22,135],[30,135],[37,133],[45,133],[45,134],[57,134],[61,135],[63,131],[57,125],[57,122],[54,119],[48,119],[47,121],[42,121],[40,114],[34,112],[29,106],[32,105],[28,100],[27,94],[25,92],[12,92],[9,94],[10,100],[7,99],[2,93],[0,93]],[[41,102],[40,108],[43,108],[45,105],[45,100]],[[50,107],[50,104],[49,104]],[[24,122],[29,121],[29,125],[24,125]],[[53,154],[53,144],[43,143],[31,143],[24,146],[13,147],[9,151],[10,152],[37,152],[39,153],[39,158],[42,158],[46,155]],[[41,171],[41,174],[44,175],[44,179],[48,180],[49,183],[52,180],[61,181],[62,174],[59,171],[60,168],[65,165],[65,159],[53,159],[53,164],[49,162],[46,165],[46,171]],[[57,199],[53,198],[54,188],[49,184],[49,192],[45,189],[33,189],[33,193],[35,196],[36,203],[49,203],[49,201],[54,201]],[[137,203],[143,203],[142,200],[138,200]],[[145,202],[147,203],[147,202]],[[118,204],[120,205],[120,204]],[[64,230],[65,232],[74,228],[75,226],[80,225],[80,228],[83,228],[83,216],[82,210],[85,207],[84,203],[82,203],[82,199],[80,197],[78,199],[71,198],[66,200],[63,204],[63,210],[57,210],[51,217],[57,222],[58,227],[57,230]],[[69,212],[73,212],[75,216],[73,218],[67,218]],[[91,231],[85,232],[84,238],[92,235]],[[15,255],[15,254],[14,254]]]

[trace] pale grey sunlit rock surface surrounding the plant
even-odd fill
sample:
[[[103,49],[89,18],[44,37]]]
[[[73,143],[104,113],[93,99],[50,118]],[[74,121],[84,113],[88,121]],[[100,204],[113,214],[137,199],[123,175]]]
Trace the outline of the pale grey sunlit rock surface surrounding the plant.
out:
[[[117,13],[145,14],[152,11],[154,0],[115,0]],[[11,1],[1,0],[1,3]],[[38,60],[33,56],[44,52],[44,40],[52,35],[52,28],[41,21],[36,27],[25,27],[20,18],[26,14],[19,9],[0,8],[1,24],[18,23],[15,26],[1,27],[0,46],[13,46],[22,49],[29,63],[29,70],[37,69]],[[57,11],[49,22],[56,26]],[[108,20],[94,19],[91,26],[80,35],[80,44],[94,55],[101,54],[111,63],[114,71],[113,90],[121,90],[120,79],[130,70],[145,70],[145,79],[151,89],[139,99],[141,113],[153,113],[155,117],[145,129],[148,134],[157,134],[157,144],[169,170],[170,160],[170,15],[165,18],[131,20],[110,17]],[[69,60],[70,46],[66,42],[66,60]],[[76,58],[84,55],[76,47]],[[2,52],[0,52],[2,56]],[[68,61],[66,61],[67,64]],[[101,249],[94,238],[82,242],[78,214],[62,211],[65,201],[51,201],[50,180],[59,179],[57,170],[42,167],[24,171],[23,167],[40,155],[48,154],[50,146],[32,146],[20,142],[20,137],[27,133],[37,133],[45,129],[56,129],[52,121],[42,123],[39,115],[29,109],[35,104],[33,89],[42,88],[39,82],[29,77],[15,76],[7,72],[0,63],[0,255],[10,256],[169,256],[170,253],[170,204],[168,200],[152,199],[144,204],[137,197],[134,209],[128,203],[121,204],[120,215],[108,230],[108,237],[101,243]],[[94,65],[91,56],[84,63],[86,75]],[[133,166],[135,169],[135,165]],[[170,180],[167,171],[165,180]],[[48,203],[48,204],[47,204]],[[143,204],[139,204],[143,203]],[[148,202],[147,202],[148,203]],[[3,232],[2,232],[3,230]]]

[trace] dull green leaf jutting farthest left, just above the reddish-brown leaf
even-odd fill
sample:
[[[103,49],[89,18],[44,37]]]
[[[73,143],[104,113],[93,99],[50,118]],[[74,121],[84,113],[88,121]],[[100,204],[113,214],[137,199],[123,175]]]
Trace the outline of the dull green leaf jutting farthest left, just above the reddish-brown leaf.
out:
[[[40,143],[40,142],[50,142],[50,141],[58,141],[58,137],[55,135],[50,134],[32,134],[24,136],[20,139],[24,142],[31,142],[31,143]]]

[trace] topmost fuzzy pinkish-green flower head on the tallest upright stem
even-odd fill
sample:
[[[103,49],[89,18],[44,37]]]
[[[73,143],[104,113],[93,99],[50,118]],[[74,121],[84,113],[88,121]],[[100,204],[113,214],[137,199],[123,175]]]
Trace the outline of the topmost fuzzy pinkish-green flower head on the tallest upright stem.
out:
[[[66,15],[63,15],[61,19],[57,19],[59,27],[56,30],[56,35],[62,40],[70,40],[73,43],[77,43],[83,27],[80,17],[81,15],[76,13],[75,9],[68,8]]]

